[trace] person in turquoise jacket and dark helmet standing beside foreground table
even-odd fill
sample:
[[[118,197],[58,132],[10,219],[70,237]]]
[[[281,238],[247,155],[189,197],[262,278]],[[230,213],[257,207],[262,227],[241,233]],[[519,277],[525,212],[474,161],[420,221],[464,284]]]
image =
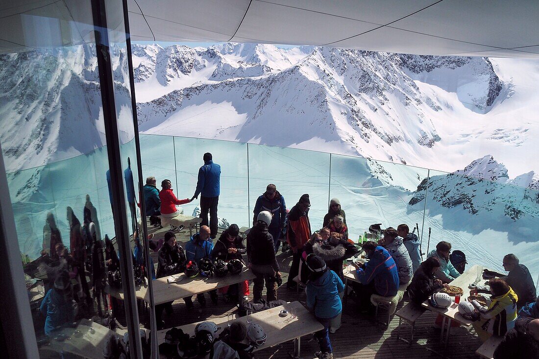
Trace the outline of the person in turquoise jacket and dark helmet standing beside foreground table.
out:
[[[324,326],[324,329],[315,333],[320,351],[315,353],[317,358],[333,358],[333,348],[329,341],[330,320],[342,312],[341,297],[339,292],[344,291],[341,278],[331,270],[328,270],[326,262],[316,254],[307,256],[305,264],[309,270],[307,282],[307,309],[314,312],[316,319]]]

